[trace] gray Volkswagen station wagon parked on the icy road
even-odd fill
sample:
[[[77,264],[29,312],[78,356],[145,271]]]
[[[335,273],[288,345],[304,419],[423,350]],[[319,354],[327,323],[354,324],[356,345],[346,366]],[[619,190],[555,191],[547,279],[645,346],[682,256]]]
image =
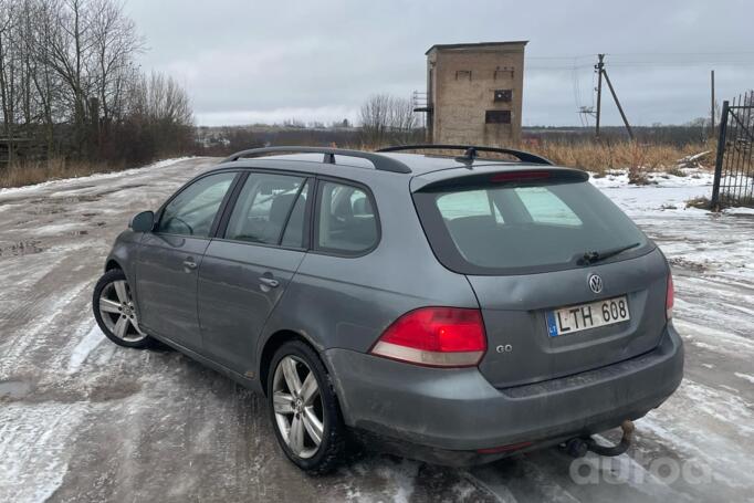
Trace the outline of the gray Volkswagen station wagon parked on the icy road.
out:
[[[263,392],[310,473],[354,444],[578,455],[683,374],[658,247],[586,172],[532,154],[245,150],[129,227],[94,291],[105,335]]]

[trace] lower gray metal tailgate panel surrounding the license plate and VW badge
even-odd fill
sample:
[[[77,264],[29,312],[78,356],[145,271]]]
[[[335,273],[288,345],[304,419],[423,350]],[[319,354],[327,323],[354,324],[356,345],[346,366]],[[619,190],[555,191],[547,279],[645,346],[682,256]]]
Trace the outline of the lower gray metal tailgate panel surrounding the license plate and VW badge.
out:
[[[603,280],[599,294],[588,285],[591,274]],[[658,249],[604,265],[468,277],[482,308],[489,344],[480,370],[495,387],[552,379],[635,357],[657,347],[666,325],[668,271]],[[627,321],[561,335],[548,329],[547,314],[555,310],[622,296],[628,303]],[[601,317],[599,312],[591,314]]]

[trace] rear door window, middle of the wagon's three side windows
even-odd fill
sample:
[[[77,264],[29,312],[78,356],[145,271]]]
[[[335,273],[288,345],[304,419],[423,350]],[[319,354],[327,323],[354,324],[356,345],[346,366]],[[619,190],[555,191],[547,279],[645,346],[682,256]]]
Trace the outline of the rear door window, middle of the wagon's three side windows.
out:
[[[296,199],[304,182],[305,178],[286,175],[249,175],[228,221],[226,239],[280,244],[291,220],[292,230],[284,237],[286,244],[301,247],[305,201],[297,203]]]

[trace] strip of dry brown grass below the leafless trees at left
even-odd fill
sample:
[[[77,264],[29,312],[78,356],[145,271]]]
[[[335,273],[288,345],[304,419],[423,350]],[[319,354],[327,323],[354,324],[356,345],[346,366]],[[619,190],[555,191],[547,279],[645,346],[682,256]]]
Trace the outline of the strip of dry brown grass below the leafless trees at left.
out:
[[[71,161],[54,158],[11,167],[0,167],[0,187],[22,187],[59,178],[84,177],[95,172],[116,171],[124,168],[124,164]]]

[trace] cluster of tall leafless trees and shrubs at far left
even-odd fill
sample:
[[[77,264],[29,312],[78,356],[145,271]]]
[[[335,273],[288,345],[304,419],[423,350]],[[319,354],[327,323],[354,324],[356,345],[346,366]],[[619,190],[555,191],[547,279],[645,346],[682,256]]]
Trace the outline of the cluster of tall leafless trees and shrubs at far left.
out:
[[[0,0],[0,135],[11,155],[20,130],[48,156],[144,160],[190,146],[186,91],[144,76],[142,51],[122,0]]]

